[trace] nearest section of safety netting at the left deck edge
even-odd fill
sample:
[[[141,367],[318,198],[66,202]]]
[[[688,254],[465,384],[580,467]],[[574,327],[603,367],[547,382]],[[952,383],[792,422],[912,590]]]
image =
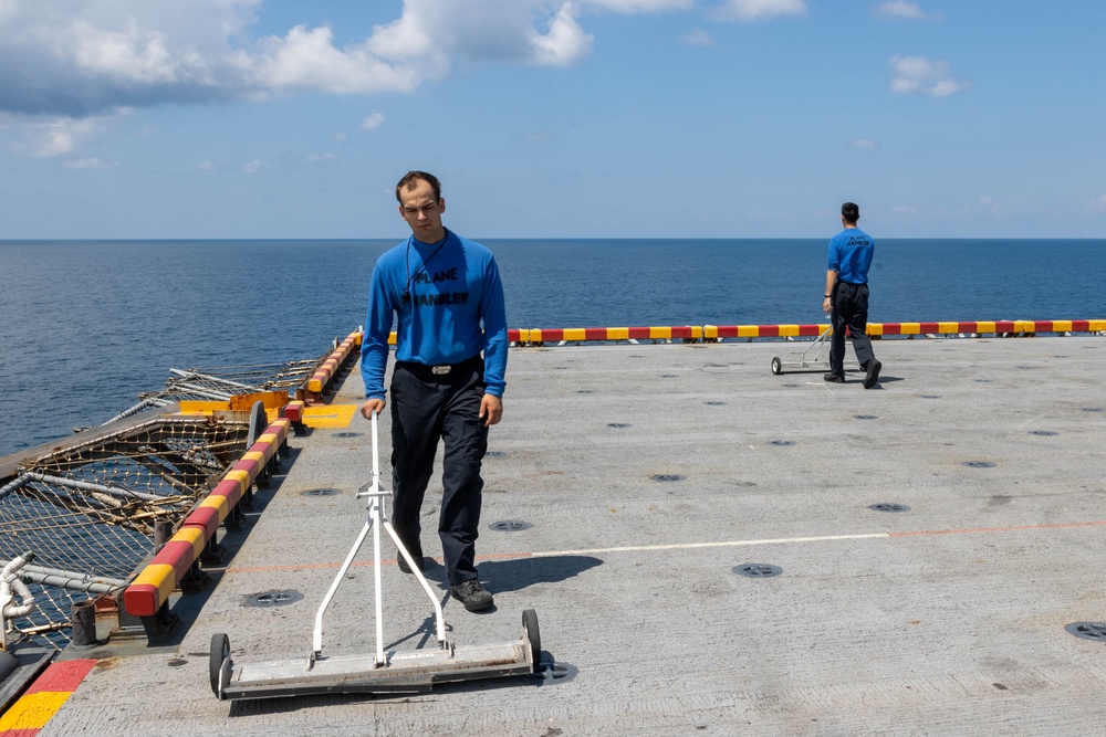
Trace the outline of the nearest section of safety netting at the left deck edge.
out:
[[[34,554],[19,571],[34,609],[6,623],[9,643],[64,646],[73,604],[126,586],[157,522],[175,527],[202,498],[246,450],[250,424],[217,414],[115,423],[0,478],[0,567]]]

